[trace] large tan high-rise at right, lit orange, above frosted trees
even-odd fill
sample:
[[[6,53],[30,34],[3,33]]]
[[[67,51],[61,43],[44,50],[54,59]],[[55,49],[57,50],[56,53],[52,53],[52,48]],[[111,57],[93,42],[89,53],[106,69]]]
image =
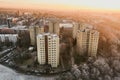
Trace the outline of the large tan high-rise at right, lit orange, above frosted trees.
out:
[[[81,27],[80,27],[81,28]],[[99,32],[82,26],[77,31],[77,48],[80,55],[96,56],[98,49]]]

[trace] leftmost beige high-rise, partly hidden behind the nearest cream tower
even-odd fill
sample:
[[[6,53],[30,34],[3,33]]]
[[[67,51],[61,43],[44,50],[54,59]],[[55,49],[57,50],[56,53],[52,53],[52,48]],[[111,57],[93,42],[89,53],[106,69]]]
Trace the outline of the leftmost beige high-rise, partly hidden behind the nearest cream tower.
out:
[[[36,45],[36,36],[38,34],[44,33],[44,27],[30,27],[30,40],[31,40],[31,45]]]

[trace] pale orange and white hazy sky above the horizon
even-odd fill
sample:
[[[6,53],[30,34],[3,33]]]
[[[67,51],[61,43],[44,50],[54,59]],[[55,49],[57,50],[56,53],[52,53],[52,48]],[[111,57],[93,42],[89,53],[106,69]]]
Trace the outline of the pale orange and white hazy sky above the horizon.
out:
[[[0,7],[120,11],[120,0],[0,0]]]

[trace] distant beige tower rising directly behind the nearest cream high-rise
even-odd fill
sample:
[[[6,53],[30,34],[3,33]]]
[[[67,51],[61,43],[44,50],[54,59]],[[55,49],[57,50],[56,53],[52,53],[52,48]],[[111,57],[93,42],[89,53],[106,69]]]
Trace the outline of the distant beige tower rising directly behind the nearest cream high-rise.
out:
[[[60,25],[59,22],[49,22],[49,32],[59,35]]]

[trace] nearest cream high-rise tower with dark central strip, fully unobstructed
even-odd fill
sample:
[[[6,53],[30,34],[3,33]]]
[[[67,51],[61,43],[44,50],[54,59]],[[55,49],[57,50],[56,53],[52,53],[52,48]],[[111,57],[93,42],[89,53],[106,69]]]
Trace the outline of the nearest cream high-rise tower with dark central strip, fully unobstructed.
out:
[[[37,36],[37,55],[39,64],[59,65],[59,37],[56,34],[44,33]]]

